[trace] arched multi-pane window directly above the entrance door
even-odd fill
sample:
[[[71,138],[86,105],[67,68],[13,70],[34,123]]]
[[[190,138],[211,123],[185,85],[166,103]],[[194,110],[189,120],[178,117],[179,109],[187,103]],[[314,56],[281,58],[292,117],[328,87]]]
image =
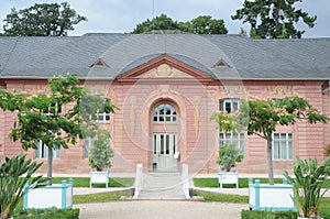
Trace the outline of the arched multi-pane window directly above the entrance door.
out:
[[[176,122],[176,109],[169,103],[161,103],[154,110],[154,122]]]

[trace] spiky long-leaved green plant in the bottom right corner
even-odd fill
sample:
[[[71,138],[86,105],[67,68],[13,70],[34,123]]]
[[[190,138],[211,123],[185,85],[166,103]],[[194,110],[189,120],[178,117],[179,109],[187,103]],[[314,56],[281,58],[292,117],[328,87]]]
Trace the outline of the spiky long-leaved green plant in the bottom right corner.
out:
[[[292,196],[299,217],[320,219],[319,205],[324,193],[321,191],[322,185],[327,177],[330,176],[330,157],[318,165],[317,158],[301,160],[297,157],[294,166],[294,177],[288,172],[284,176],[294,186],[294,196]]]

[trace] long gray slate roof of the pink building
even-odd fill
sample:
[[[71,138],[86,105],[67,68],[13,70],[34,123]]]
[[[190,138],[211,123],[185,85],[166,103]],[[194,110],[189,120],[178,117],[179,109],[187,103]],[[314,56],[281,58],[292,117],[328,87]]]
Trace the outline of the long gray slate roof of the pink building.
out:
[[[114,79],[167,54],[215,79],[330,79],[330,37],[252,40],[242,35],[85,34],[0,37],[0,78],[77,73]],[[107,66],[92,64],[101,58]],[[230,67],[215,66],[219,61]]]

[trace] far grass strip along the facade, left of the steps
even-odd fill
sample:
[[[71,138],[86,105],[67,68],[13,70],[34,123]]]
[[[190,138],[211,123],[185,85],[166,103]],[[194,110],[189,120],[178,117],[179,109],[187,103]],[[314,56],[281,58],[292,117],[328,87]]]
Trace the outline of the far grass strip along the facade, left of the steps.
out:
[[[55,177],[53,184],[61,184],[63,179],[68,182],[69,177]],[[73,177],[74,187],[89,187],[89,177]],[[134,178],[110,177],[109,187],[130,187],[134,183]],[[106,187],[106,184],[95,184],[94,187]]]

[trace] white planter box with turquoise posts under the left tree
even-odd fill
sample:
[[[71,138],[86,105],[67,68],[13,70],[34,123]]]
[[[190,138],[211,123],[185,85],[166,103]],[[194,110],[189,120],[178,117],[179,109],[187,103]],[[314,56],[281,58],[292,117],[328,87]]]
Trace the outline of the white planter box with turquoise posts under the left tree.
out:
[[[30,187],[29,182],[26,182],[23,208],[73,208],[73,179],[69,179],[69,184],[66,184],[66,180],[62,180],[62,184],[53,184],[52,186],[40,188]]]

